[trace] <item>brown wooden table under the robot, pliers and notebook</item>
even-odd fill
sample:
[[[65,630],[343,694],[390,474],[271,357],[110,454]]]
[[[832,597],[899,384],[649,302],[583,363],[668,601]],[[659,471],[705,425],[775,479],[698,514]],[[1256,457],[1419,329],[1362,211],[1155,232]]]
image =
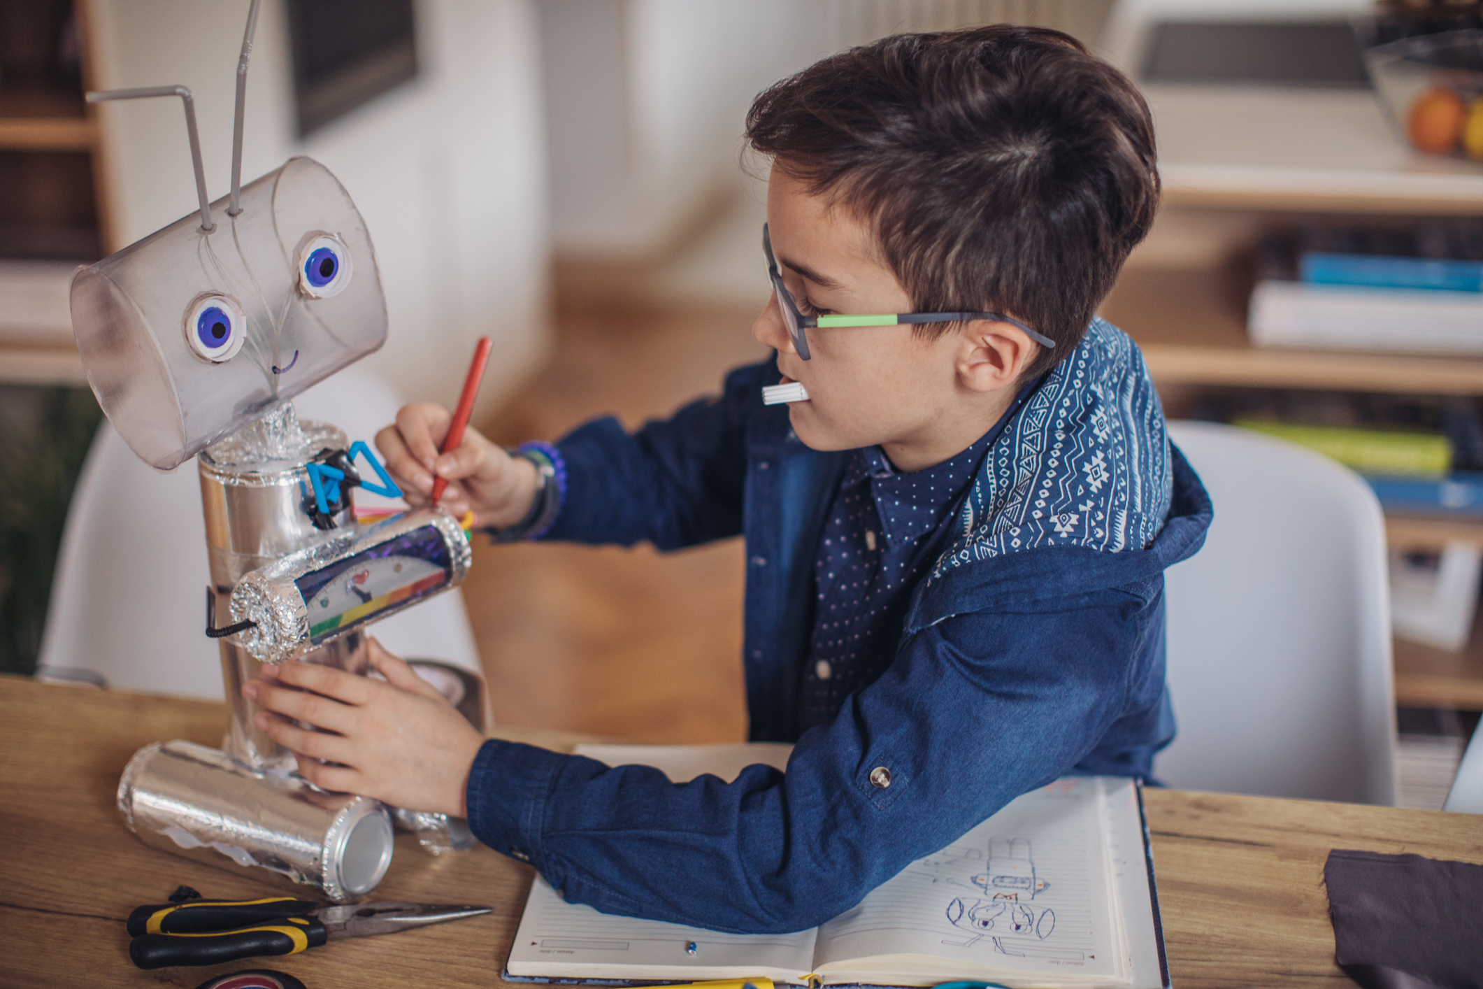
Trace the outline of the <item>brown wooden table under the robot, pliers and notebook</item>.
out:
[[[286,959],[139,971],[123,918],[178,884],[212,897],[277,891],[147,848],[114,807],[133,752],[162,738],[219,744],[222,704],[0,678],[0,986],[196,986],[282,968],[310,989],[498,986],[534,875],[488,848],[432,857],[408,835],[375,899],[476,903],[489,916],[356,939]],[[501,731],[565,747],[571,735]],[[1149,790],[1173,983],[1342,986],[1323,891],[1330,848],[1483,863],[1483,817]]]

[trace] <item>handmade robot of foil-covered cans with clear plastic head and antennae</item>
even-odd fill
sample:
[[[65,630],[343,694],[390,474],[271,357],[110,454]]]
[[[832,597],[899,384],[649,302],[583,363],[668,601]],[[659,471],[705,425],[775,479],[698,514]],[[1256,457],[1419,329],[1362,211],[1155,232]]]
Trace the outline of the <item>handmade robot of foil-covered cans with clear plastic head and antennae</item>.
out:
[[[141,749],[119,808],[153,847],[347,900],[386,873],[393,818],[433,850],[472,836],[443,816],[307,783],[294,755],[254,727],[242,684],[264,663],[365,673],[365,627],[458,586],[470,549],[436,509],[357,523],[353,488],[400,492],[365,442],[294,414],[294,396],[381,347],[387,314],[369,231],[328,169],[295,157],[240,184],[258,3],[237,65],[228,197],[208,200],[188,89],[87,95],[179,96],[185,107],[199,212],[79,268],[71,311],[87,381],[133,452],[160,470],[199,457],[206,635],[219,641],[231,704],[221,750]],[[479,724],[482,701],[464,713]]]

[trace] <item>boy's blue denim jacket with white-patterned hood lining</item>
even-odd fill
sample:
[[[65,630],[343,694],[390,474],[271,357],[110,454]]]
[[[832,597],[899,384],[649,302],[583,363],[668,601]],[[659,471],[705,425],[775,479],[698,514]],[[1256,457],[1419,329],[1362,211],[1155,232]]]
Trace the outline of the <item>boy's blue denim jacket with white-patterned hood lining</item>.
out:
[[[559,443],[568,498],[546,538],[744,535],[750,735],[795,741],[786,773],[684,784],[486,741],[467,786],[475,835],[568,902],[804,930],[1059,775],[1146,778],[1173,737],[1163,571],[1198,550],[1210,501],[1127,337],[1096,320],[1005,424],[911,593],[894,660],[801,737],[813,565],[853,451],[804,446],[786,408],[761,402],[776,381],[771,362],[743,368],[670,420],[633,434],[598,420]]]

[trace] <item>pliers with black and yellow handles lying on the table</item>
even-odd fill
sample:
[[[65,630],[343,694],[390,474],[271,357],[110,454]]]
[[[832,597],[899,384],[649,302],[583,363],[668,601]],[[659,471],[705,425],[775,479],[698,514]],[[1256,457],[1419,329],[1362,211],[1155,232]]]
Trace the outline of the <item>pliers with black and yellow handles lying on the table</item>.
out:
[[[139,968],[215,965],[255,955],[297,955],[334,937],[394,934],[489,913],[488,906],[350,903],[286,896],[154,903],[129,915],[129,958]]]

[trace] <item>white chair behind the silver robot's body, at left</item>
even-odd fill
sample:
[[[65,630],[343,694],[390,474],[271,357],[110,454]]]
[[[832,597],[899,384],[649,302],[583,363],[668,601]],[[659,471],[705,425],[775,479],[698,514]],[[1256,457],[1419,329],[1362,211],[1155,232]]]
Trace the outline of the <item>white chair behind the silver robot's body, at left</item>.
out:
[[[400,400],[381,378],[350,368],[294,405],[301,418],[334,423],[369,443]],[[205,635],[208,583],[196,463],[159,473],[104,423],[67,515],[37,678],[221,700],[219,652]],[[482,673],[458,590],[369,633],[399,655]]]

